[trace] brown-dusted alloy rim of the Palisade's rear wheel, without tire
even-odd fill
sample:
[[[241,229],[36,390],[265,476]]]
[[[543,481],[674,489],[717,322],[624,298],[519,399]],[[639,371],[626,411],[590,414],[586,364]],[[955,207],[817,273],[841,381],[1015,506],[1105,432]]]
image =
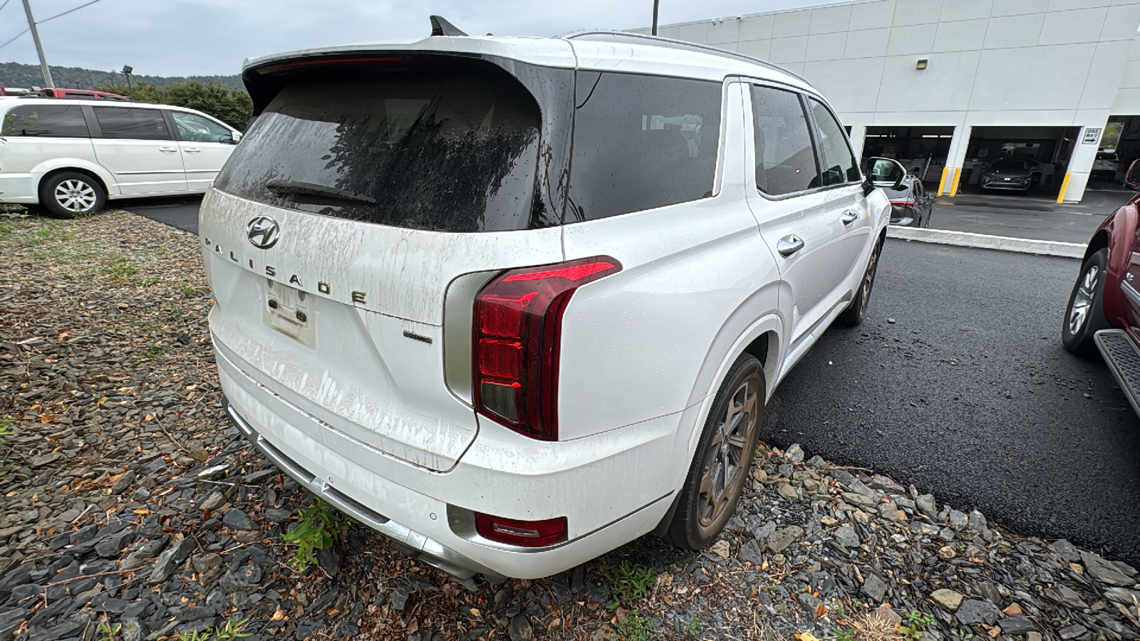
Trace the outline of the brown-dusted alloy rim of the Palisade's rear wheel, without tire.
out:
[[[751,453],[744,448],[752,443],[758,428],[759,393],[760,378],[754,373],[728,397],[728,407],[717,423],[706,451],[697,503],[698,524],[702,528],[714,526],[724,516],[751,465]]]

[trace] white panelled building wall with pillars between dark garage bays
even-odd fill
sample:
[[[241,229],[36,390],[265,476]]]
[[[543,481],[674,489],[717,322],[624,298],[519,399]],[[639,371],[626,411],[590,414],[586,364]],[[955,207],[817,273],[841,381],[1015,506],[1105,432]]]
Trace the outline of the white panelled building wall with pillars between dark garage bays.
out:
[[[1138,25],[1140,0],[873,0],[658,34],[803,75],[858,133],[860,148],[868,125],[954,127],[939,187],[953,194],[971,127],[1104,128],[1109,113],[1140,114]],[[926,70],[915,68],[920,58]],[[1080,201],[1096,152],[1077,145],[1065,201]]]

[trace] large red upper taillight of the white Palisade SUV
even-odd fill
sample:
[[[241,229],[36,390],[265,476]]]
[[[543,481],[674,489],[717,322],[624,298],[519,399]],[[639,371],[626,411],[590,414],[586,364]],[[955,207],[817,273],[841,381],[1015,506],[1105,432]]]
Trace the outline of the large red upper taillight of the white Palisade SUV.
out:
[[[512,269],[475,295],[475,411],[539,440],[557,440],[562,314],[575,290],[621,270],[610,257]]]

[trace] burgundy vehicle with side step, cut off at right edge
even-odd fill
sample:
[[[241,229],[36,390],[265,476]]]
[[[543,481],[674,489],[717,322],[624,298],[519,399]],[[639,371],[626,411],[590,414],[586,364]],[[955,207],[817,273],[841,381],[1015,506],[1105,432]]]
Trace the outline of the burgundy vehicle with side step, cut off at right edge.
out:
[[[1140,181],[1140,164],[1125,180]],[[1135,173],[1133,177],[1132,175]],[[1073,285],[1061,340],[1089,358],[1099,352],[1140,414],[1140,194],[1097,228]]]

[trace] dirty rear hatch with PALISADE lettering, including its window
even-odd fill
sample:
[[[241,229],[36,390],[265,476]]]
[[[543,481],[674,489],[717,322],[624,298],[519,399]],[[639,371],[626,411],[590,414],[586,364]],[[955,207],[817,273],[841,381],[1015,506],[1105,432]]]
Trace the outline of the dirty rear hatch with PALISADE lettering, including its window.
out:
[[[571,74],[423,52],[247,70],[256,120],[199,221],[220,357],[337,443],[453,466],[478,430],[478,284],[562,259]]]

